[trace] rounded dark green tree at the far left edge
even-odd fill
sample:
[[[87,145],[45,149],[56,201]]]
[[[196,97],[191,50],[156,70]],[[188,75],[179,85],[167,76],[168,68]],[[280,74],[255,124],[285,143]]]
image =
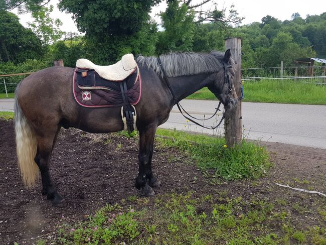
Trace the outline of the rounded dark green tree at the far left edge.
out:
[[[43,55],[40,39],[12,13],[0,12],[0,61],[15,64]]]

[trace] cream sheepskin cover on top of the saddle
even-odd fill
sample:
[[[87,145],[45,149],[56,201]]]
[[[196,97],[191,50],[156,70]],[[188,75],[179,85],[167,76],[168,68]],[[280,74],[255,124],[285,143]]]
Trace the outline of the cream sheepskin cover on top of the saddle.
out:
[[[136,61],[133,58],[133,54],[125,54],[121,60],[113,65],[99,66],[87,59],[79,59],[76,62],[76,67],[93,69],[97,74],[110,81],[122,81],[127,78],[137,67]]]

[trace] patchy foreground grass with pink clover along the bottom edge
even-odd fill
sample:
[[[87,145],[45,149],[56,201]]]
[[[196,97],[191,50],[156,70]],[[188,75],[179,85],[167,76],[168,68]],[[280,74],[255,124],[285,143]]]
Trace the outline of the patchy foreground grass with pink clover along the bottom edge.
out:
[[[52,244],[325,244],[325,228],[297,226],[271,202],[194,193],[122,199],[58,225]],[[203,208],[205,207],[205,208]],[[284,213],[286,218],[284,218]],[[42,240],[44,241],[44,240]],[[50,243],[50,241],[48,241]]]

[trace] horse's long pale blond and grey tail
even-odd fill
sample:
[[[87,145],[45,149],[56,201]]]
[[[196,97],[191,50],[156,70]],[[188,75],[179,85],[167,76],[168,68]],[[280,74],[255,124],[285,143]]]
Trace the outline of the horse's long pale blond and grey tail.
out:
[[[33,187],[39,176],[39,168],[34,160],[37,138],[18,101],[21,83],[15,91],[15,133],[19,172],[26,187]]]

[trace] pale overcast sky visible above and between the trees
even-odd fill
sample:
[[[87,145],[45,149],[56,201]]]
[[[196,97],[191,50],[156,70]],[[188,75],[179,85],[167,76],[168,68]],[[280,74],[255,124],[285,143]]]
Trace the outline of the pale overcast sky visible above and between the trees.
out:
[[[193,0],[194,3],[202,2],[202,0]],[[240,17],[245,17],[242,24],[250,24],[252,22],[260,22],[261,19],[270,15],[281,21],[290,20],[293,13],[299,13],[302,18],[306,15],[320,15],[326,12],[326,1],[324,0],[217,0],[218,9],[222,9],[223,6],[230,7],[234,4],[235,9],[238,11]],[[55,7],[52,14],[52,18],[59,18],[63,22],[62,30],[65,32],[77,32],[77,28],[71,15],[60,12],[56,6],[59,0],[51,0],[50,4]],[[203,9],[209,9],[211,4],[206,4]],[[166,2],[162,2],[159,6],[152,9],[151,17],[153,17],[157,23],[160,22],[159,17],[155,16],[160,11],[164,11],[167,8]],[[15,14],[17,12],[13,11]],[[27,22],[32,22],[30,15],[19,15],[21,23],[27,27]]]

